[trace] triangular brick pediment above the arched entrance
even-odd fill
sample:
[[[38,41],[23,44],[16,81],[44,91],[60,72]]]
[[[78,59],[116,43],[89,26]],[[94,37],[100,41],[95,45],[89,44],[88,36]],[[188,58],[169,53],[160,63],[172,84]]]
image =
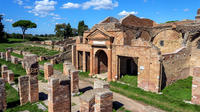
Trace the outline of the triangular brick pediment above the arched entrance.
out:
[[[108,32],[102,31],[100,29],[95,29],[90,34],[88,34],[86,38],[91,40],[109,40],[111,37],[113,36]]]

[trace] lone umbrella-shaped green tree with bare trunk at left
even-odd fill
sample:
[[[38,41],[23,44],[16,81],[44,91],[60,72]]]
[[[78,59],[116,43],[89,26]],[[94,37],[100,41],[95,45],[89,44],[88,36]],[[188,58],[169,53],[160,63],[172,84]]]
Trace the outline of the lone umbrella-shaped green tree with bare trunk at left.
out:
[[[19,20],[12,24],[13,27],[20,27],[23,33],[23,39],[25,37],[25,32],[28,28],[37,28],[37,25],[29,20]]]

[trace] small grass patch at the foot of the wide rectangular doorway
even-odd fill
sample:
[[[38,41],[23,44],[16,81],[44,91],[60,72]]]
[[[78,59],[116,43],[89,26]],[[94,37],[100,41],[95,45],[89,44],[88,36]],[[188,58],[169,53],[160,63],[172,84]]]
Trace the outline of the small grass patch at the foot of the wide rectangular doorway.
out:
[[[125,75],[120,79],[120,81],[137,87],[137,76]]]

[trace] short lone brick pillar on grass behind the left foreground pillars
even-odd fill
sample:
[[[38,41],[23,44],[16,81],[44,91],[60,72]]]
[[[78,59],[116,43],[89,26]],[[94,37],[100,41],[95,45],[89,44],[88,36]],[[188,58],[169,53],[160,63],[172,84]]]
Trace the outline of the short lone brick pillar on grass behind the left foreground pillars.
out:
[[[48,80],[53,75],[53,65],[51,63],[44,63],[44,78]]]

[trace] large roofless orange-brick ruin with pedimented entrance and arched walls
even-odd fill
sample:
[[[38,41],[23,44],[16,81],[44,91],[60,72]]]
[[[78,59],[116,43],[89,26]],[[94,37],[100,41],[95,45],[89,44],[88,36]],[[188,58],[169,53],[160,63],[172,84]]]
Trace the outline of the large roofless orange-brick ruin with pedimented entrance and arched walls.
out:
[[[137,76],[139,88],[158,93],[200,66],[199,15],[200,9],[196,20],[165,24],[134,15],[108,17],[76,38],[72,65],[90,76],[107,73],[108,81]]]

